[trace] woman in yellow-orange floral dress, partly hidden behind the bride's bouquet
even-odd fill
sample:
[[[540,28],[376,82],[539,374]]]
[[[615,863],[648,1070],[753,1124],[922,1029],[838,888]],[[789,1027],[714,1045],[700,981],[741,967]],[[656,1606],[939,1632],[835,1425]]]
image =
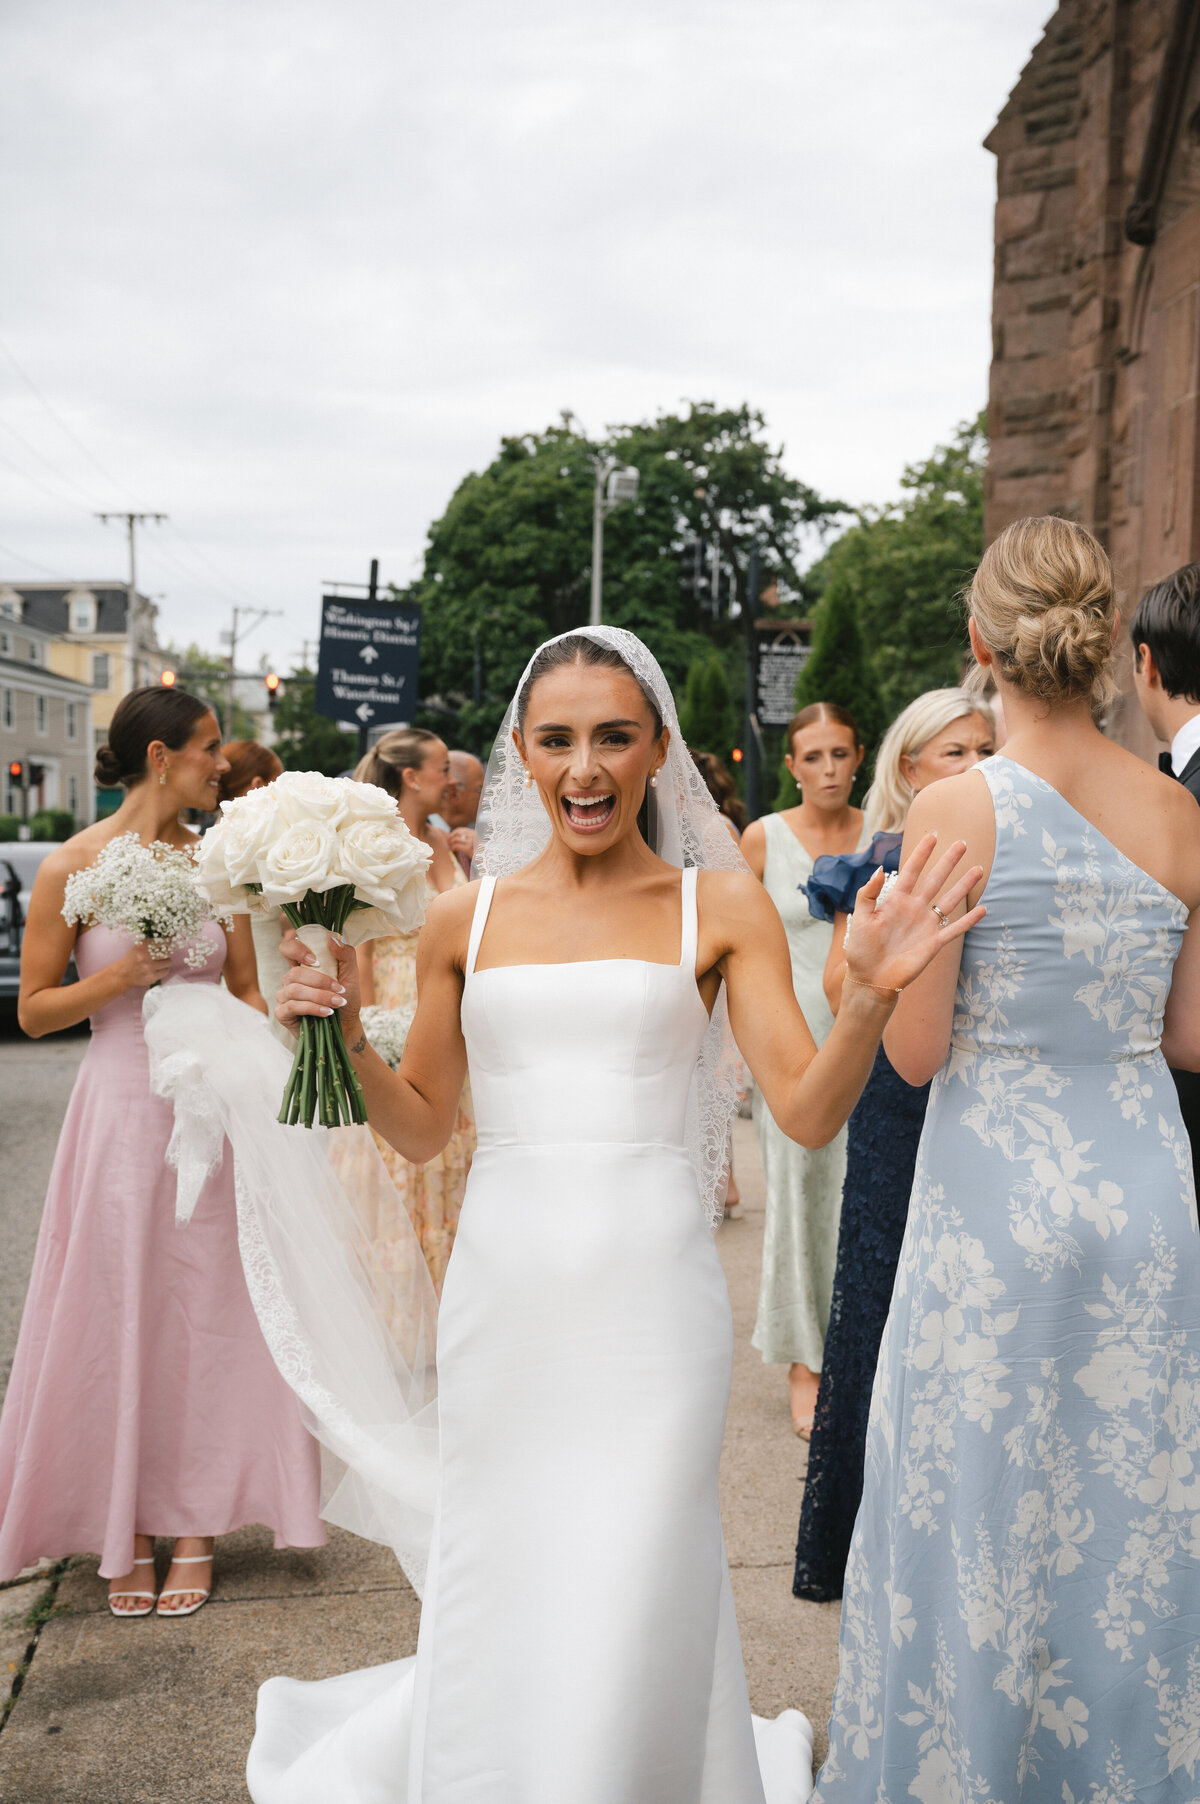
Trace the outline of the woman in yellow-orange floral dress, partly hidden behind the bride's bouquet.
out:
[[[395,796],[410,833],[431,848],[433,861],[428,879],[431,897],[466,882],[446,833],[429,826],[429,815],[440,810],[446,787],[451,781],[449,754],[435,732],[426,732],[422,727],[399,727],[395,732],[386,732],[361,759],[354,776],[359,783],[377,783],[379,788]],[[377,1008],[411,1008],[417,1001],[417,934],[395,933],[359,947],[359,972],[365,1003],[374,1003]],[[462,1192],[467,1187],[471,1155],[475,1153],[469,1081],[462,1086],[455,1131],[437,1158],[424,1165],[410,1165],[379,1135],[375,1135],[375,1144],[395,1183],[397,1196],[408,1209],[433,1286],[440,1295],[446,1261],[455,1245]],[[388,1245],[397,1241],[395,1223],[377,1221],[375,1241],[384,1265],[388,1265]],[[402,1259],[402,1239],[397,1241],[397,1257]]]

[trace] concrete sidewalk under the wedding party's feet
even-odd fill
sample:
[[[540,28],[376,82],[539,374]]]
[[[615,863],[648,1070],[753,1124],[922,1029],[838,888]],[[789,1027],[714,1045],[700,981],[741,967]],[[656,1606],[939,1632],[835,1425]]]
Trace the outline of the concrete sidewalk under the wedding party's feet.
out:
[[[790,1431],[783,1369],[763,1366],[749,1344],[763,1230],[749,1122],[736,1124],[736,1167],[745,1218],[718,1234],[738,1339],[725,1541],[751,1703],[763,1716],[805,1710],[819,1757],[839,1607],[792,1597],[803,1443]],[[262,1680],[325,1678],[417,1645],[419,1604],[395,1559],[339,1530],[314,1553],[274,1553],[263,1530],[222,1539],[215,1595],[184,1622],[117,1622],[96,1564],[78,1559],[56,1584],[36,1577],[0,1589],[0,1698],[36,1640],[0,1734],[0,1804],[245,1804]]]

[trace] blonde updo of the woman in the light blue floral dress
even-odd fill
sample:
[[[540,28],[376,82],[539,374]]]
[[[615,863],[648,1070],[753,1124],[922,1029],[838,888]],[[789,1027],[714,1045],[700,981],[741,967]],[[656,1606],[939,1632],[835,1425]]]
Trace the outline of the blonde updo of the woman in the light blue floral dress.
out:
[[[1113,568],[1104,547],[1074,520],[1014,520],[980,561],[967,612],[998,675],[1039,702],[1092,702],[1117,695]],[[983,666],[967,678],[976,689]]]

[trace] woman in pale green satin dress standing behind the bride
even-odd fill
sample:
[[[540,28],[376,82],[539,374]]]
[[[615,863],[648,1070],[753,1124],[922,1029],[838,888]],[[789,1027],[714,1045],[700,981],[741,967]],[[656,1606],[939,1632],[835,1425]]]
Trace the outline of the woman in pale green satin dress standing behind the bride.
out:
[[[803,884],[816,859],[866,844],[863,814],[850,806],[863,745],[854,716],[835,702],[801,709],[787,743],[799,806],[752,821],[742,851],[783,916],[792,987],[819,1046],[834,1025],[821,981],[834,929],[810,913]],[[776,1128],[758,1093],[754,1126],[767,1178],[767,1232],[752,1344],[769,1364],[789,1367],[792,1427],[807,1440],[834,1295],[846,1129],[810,1153]]]

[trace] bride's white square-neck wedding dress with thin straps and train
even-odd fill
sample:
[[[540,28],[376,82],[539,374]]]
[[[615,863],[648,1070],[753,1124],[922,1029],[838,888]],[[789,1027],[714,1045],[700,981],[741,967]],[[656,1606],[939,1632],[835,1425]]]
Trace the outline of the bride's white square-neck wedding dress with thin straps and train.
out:
[[[478,1118],[438,1321],[440,1488],[413,1660],[271,1680],[256,1804],[799,1804],[751,1719],[716,1503],[729,1293],[684,1144],[707,1028],[678,965],[475,963]]]

